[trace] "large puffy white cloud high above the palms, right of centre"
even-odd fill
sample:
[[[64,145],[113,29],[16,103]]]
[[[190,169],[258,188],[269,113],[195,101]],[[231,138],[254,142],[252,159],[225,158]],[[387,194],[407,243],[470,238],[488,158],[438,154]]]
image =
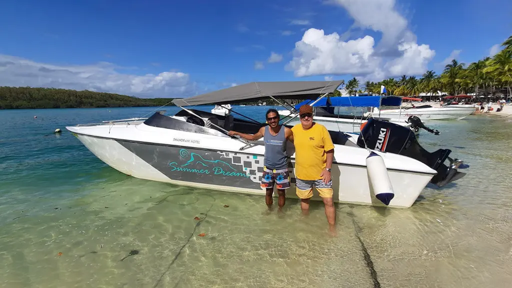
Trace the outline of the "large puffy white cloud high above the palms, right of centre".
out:
[[[352,27],[382,33],[378,44],[372,36],[345,40],[338,33],[326,35],[321,29],[308,29],[295,43],[293,58],[286,65],[295,76],[351,74],[381,80],[402,74],[423,74],[435,51],[419,45],[408,30],[407,20],[394,8],[394,0],[329,0],[341,6],[354,19]],[[371,16],[369,16],[371,15]]]

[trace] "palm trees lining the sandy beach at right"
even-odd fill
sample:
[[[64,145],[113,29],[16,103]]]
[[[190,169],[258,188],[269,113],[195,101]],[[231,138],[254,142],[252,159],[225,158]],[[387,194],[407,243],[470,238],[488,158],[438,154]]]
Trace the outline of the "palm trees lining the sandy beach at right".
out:
[[[484,57],[467,66],[453,59],[441,75],[430,70],[421,78],[403,75],[399,79],[389,78],[377,83],[366,81],[363,89],[359,88],[359,80],[354,77],[345,88],[350,95],[363,92],[380,95],[381,85],[386,87],[387,95],[396,96],[434,95],[438,91],[448,95],[475,93],[489,96],[497,92],[512,95],[512,36],[501,46],[503,50],[493,57]]]

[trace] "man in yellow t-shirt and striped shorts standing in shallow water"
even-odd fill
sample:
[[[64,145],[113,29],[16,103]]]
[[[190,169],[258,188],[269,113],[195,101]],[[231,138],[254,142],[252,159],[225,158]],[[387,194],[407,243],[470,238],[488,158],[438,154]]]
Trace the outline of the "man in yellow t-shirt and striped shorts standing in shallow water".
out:
[[[301,106],[299,117],[301,124],[291,129],[295,145],[296,193],[301,198],[302,211],[307,213],[314,186],[324,201],[325,215],[333,228],[336,211],[332,199],[331,168],[334,145],[331,135],[325,126],[313,122],[311,106]]]

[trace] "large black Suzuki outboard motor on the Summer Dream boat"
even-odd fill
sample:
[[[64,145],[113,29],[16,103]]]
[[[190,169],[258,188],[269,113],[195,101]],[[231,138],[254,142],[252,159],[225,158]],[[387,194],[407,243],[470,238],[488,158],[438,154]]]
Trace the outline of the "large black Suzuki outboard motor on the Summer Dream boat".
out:
[[[468,166],[461,160],[450,158],[449,155],[452,152],[450,149],[439,149],[430,153],[419,145],[411,129],[393,122],[370,118],[359,134],[357,145],[365,148],[365,142],[370,149],[408,156],[425,163],[437,171],[430,182],[438,187],[466,175],[466,173],[458,172],[457,169]],[[449,166],[444,164],[446,159],[450,161]]]

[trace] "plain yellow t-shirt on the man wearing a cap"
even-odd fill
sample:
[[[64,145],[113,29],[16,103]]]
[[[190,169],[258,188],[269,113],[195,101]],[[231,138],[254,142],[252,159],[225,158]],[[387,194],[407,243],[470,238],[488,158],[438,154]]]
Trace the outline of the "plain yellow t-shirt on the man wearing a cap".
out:
[[[308,130],[302,124],[292,127],[295,146],[295,177],[301,180],[322,179],[326,168],[326,151],[334,149],[331,135],[325,126],[315,123]]]

